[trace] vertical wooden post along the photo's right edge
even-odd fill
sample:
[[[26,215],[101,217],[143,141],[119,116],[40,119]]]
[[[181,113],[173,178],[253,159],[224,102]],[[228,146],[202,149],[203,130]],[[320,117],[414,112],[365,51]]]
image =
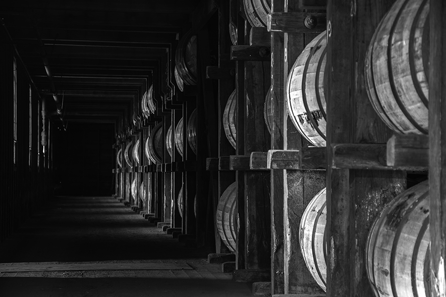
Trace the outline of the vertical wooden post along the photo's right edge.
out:
[[[429,195],[431,296],[446,296],[446,3],[430,2]]]

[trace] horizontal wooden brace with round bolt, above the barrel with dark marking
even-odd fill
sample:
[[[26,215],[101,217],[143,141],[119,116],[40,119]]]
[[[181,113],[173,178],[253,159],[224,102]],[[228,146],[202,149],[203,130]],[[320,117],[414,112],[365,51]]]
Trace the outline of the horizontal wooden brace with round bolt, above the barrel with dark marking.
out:
[[[268,31],[321,33],[327,29],[325,13],[274,12],[268,14]]]

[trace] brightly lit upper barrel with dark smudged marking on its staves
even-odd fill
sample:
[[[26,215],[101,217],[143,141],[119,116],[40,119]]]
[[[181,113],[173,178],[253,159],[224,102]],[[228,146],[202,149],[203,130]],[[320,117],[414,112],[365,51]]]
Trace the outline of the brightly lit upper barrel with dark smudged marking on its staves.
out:
[[[299,133],[316,147],[326,146],[327,104],[325,100],[327,31],[311,41],[288,75],[288,113]]]

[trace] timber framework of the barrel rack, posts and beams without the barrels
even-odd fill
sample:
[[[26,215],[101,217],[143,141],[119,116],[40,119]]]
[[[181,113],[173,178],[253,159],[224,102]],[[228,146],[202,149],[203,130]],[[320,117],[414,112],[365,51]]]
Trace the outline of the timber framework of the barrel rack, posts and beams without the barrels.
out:
[[[446,4],[430,1],[428,137],[393,134],[367,95],[363,69],[368,45],[394,1],[328,0],[327,5],[312,5],[318,1],[271,0],[263,27],[254,27],[246,14],[245,2],[250,0],[205,2],[197,9],[201,17],[192,18],[191,31],[172,44],[170,60],[165,61],[167,78],[164,71],[162,79],[154,74],[153,95],[149,85],[144,90],[156,108],[147,113],[135,103],[139,122],[121,131],[115,145],[117,163],[122,164],[115,169],[116,196],[144,218],[166,226],[163,230],[179,241],[215,248],[209,261],[223,263],[223,271],[233,270],[235,281],[253,282],[255,294],[374,296],[365,263],[372,224],[388,201],[413,180],[418,183],[429,175],[429,286],[432,296],[445,296],[446,188],[441,181],[446,170]],[[288,116],[286,80],[300,53],[325,30],[330,69],[326,146],[312,147]],[[174,52],[184,44],[183,36],[196,36],[197,75],[195,85],[185,83],[180,91]],[[225,107],[234,90],[228,126],[223,117],[228,116]],[[265,98],[272,103],[267,115]],[[196,152],[188,145],[186,124],[195,108]],[[170,126],[172,134],[181,127],[181,119],[182,155],[174,137],[166,137]],[[157,125],[162,127],[163,144],[158,163],[146,157],[145,149]],[[227,139],[231,128],[236,132],[233,146]],[[125,153],[138,140],[140,163],[133,157],[127,160]],[[144,184],[138,188],[144,196],[132,196],[133,180]],[[218,231],[216,211],[234,182],[238,232],[229,240],[235,240],[231,252],[225,245],[228,238]],[[304,210],[324,188],[326,293],[307,268],[299,242]]]

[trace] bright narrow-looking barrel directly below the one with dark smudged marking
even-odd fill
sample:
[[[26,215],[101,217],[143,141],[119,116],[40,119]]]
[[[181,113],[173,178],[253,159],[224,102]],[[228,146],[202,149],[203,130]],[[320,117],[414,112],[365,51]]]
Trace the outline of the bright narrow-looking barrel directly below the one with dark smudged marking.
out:
[[[327,291],[327,224],[326,189],[307,205],[300,221],[300,250],[308,270],[318,285]]]

